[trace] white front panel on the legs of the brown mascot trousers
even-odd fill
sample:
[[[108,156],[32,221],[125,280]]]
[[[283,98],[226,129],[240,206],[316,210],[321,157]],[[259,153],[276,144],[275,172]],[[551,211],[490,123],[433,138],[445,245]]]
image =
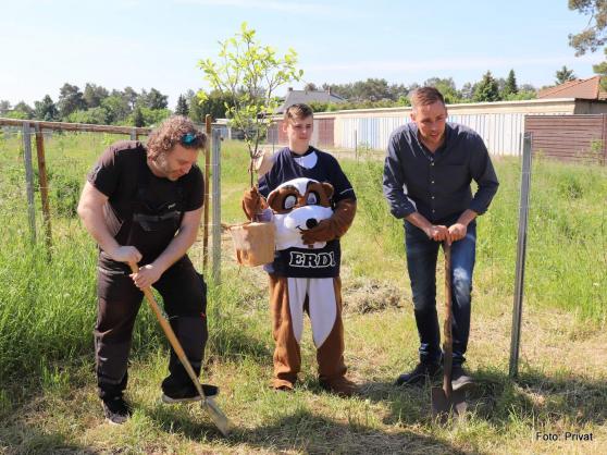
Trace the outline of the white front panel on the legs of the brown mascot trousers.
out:
[[[293,332],[297,343],[304,332],[304,302],[308,295],[312,339],[317,348],[321,347],[337,317],[337,302],[332,278],[288,278],[288,304]]]

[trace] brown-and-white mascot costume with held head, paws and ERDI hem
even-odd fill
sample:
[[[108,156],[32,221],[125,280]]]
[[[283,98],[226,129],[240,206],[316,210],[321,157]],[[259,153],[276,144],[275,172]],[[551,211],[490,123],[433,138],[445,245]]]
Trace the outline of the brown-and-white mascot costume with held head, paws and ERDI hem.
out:
[[[347,182],[345,176],[344,180]],[[270,189],[265,184],[260,180],[260,192]],[[344,185],[348,187],[349,182],[340,184]],[[246,192],[243,198],[249,219],[272,220],[276,228],[274,262],[265,266],[276,343],[274,389],[290,391],[297,381],[307,312],[317,347],[320,385],[343,396],[356,392],[356,384],[346,379],[344,362],[338,239],[354,220],[356,197],[351,186],[345,192],[339,189],[346,197],[336,201],[332,184],[296,177],[269,190],[267,202],[257,188]]]

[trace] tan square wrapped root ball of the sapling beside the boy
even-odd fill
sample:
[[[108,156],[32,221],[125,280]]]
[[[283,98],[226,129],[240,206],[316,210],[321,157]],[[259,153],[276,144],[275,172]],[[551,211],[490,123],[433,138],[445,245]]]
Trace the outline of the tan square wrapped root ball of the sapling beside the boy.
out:
[[[274,231],[272,222],[248,222],[230,226],[236,261],[247,267],[273,262]]]

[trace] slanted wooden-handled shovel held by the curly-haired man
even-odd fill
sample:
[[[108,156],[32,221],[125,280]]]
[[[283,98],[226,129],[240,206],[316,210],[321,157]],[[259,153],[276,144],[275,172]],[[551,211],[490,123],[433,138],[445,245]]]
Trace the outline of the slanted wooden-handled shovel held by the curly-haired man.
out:
[[[135,263],[129,263],[128,266],[131,267],[133,273],[137,273],[139,271],[139,268]],[[171,343],[171,346],[173,346],[175,354],[179,358],[182,365],[187,371],[187,374],[189,376],[189,379],[191,379],[191,382],[196,386],[198,394],[202,398],[202,403],[201,403],[202,409],[205,409],[209,414],[211,420],[213,421],[215,427],[221,431],[221,433],[224,436],[227,436],[232,428],[232,422],[227,419],[227,417],[225,417],[225,414],[223,414],[223,411],[220,409],[220,407],[216,405],[213,398],[210,397],[207,398],[205,396],[202,386],[200,385],[200,382],[198,381],[198,378],[194,372],[194,369],[191,368],[191,364],[189,362],[189,360],[185,355],[182,344],[177,340],[177,336],[175,335],[175,332],[173,332],[173,328],[171,327],[169,321],[164,318],[164,316],[162,316],[162,312],[160,311],[160,307],[156,303],[156,298],[153,298],[153,294],[151,293],[150,288],[146,287],[141,291],[146,295],[146,299],[148,300],[148,304],[150,305],[150,308],[154,313],[156,319],[158,319],[158,322],[160,322],[160,327],[162,327],[164,334],[169,339],[169,343]]]

